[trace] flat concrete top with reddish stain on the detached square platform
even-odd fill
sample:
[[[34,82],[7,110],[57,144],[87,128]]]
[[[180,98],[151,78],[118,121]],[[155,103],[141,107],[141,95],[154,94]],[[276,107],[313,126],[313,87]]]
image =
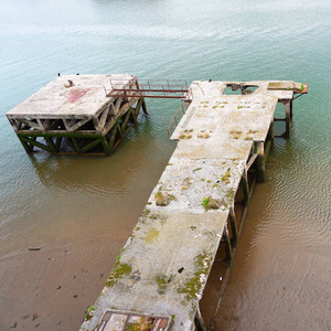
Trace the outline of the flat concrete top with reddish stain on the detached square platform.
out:
[[[72,81],[73,87],[65,87]],[[106,97],[105,88],[128,87],[135,75],[63,75],[7,113],[9,118],[85,118],[98,116],[114,98]]]

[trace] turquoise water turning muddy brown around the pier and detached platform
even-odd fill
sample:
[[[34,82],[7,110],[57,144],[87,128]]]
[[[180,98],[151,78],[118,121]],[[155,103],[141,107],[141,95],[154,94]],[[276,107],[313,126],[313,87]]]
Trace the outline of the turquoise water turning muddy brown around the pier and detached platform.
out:
[[[330,329],[330,17],[327,0],[2,0],[0,259],[129,232],[174,148],[166,128],[178,103],[149,100],[111,158],[28,157],[4,114],[58,72],[309,83],[255,192],[218,328]]]

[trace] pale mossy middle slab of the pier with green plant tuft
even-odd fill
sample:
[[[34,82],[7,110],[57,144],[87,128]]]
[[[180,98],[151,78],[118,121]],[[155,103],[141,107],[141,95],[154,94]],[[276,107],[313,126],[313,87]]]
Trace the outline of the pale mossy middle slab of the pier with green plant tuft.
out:
[[[174,153],[147,206],[150,211],[203,213],[202,203],[210,197],[220,200],[220,210],[226,211],[233,204],[245,164],[245,160],[195,159]]]

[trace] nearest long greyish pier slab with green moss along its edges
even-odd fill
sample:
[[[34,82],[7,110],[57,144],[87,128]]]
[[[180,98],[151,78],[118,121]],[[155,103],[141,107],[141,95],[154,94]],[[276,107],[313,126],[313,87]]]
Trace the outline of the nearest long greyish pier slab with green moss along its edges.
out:
[[[147,207],[81,330],[109,307],[173,316],[172,330],[191,330],[227,213]]]

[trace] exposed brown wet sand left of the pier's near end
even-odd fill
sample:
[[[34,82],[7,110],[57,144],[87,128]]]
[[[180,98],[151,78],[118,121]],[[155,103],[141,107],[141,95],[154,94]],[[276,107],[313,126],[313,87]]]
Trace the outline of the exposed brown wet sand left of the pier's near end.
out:
[[[2,257],[0,330],[78,330],[129,232]]]

